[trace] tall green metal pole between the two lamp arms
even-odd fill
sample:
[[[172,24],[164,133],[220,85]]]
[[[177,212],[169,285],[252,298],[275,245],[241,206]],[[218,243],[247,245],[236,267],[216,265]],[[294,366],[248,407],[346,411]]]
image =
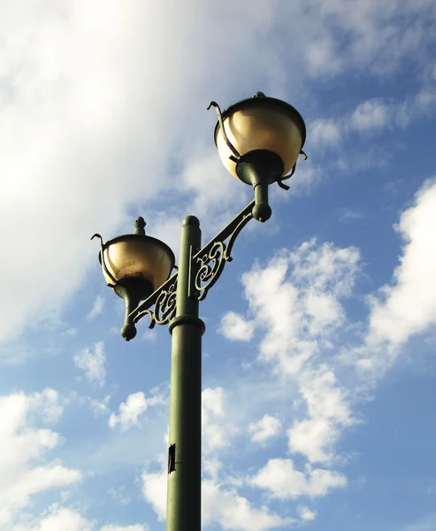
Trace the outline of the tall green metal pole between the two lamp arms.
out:
[[[202,457],[202,335],[192,257],[201,247],[200,222],[183,221],[172,334],[167,531],[200,531]]]

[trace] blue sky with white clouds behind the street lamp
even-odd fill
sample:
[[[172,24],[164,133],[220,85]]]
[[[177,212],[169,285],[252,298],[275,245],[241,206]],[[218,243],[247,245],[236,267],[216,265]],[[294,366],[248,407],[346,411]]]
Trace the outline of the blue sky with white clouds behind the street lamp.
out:
[[[201,303],[203,528],[436,530],[434,0],[0,0],[0,529],[164,529],[171,335],[96,232],[251,201],[216,114],[308,135]],[[145,319],[144,319],[145,320]]]

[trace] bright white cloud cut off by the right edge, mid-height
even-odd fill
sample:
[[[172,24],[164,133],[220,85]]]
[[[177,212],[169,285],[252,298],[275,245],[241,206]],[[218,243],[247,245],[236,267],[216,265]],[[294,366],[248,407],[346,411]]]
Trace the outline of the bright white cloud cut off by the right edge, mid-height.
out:
[[[402,212],[396,230],[404,247],[390,285],[371,298],[370,327],[359,365],[388,366],[397,349],[411,335],[436,324],[436,292],[429,289],[436,271],[436,182],[417,192],[415,204]],[[381,350],[380,350],[381,349]]]

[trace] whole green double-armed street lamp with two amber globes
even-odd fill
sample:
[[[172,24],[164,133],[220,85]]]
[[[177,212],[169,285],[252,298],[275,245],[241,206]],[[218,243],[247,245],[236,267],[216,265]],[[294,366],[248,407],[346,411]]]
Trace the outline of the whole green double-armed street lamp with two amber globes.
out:
[[[170,431],[168,449],[167,531],[199,531],[201,527],[202,335],[199,302],[232,260],[233,243],[252,218],[271,217],[268,187],[294,174],[306,127],[291,105],[257,92],[218,113],[215,143],[227,170],[251,185],[255,199],[209,243],[201,245],[200,221],[187,216],[181,228],[178,271],[172,250],[145,235],[145,221],[135,221],[133,235],[103,243],[99,259],[108,286],[124,298],[130,341],[135,325],[149,317],[149,327],[169,324],[172,334]],[[143,302],[141,302],[143,301]]]

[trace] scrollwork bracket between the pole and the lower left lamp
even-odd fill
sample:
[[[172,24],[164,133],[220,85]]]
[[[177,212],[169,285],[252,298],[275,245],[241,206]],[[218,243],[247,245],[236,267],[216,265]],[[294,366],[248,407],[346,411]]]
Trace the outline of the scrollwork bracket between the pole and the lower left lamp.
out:
[[[169,323],[176,312],[176,291],[177,291],[177,273],[174,274],[169,281],[155,291],[149,299],[142,304],[152,306],[154,309],[145,308],[134,315],[134,324],[136,324],[144,315],[149,316],[149,328],[154,328],[155,325],[165,325]]]

